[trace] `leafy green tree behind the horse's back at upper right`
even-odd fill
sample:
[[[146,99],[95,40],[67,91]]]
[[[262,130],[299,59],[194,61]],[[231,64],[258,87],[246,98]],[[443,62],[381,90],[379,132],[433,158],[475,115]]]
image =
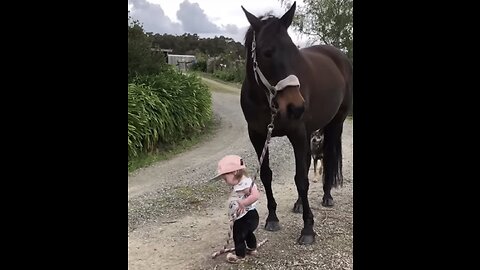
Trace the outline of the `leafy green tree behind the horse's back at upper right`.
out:
[[[280,0],[289,9],[291,0]],[[353,0],[304,0],[292,26],[312,42],[333,45],[353,60]]]

